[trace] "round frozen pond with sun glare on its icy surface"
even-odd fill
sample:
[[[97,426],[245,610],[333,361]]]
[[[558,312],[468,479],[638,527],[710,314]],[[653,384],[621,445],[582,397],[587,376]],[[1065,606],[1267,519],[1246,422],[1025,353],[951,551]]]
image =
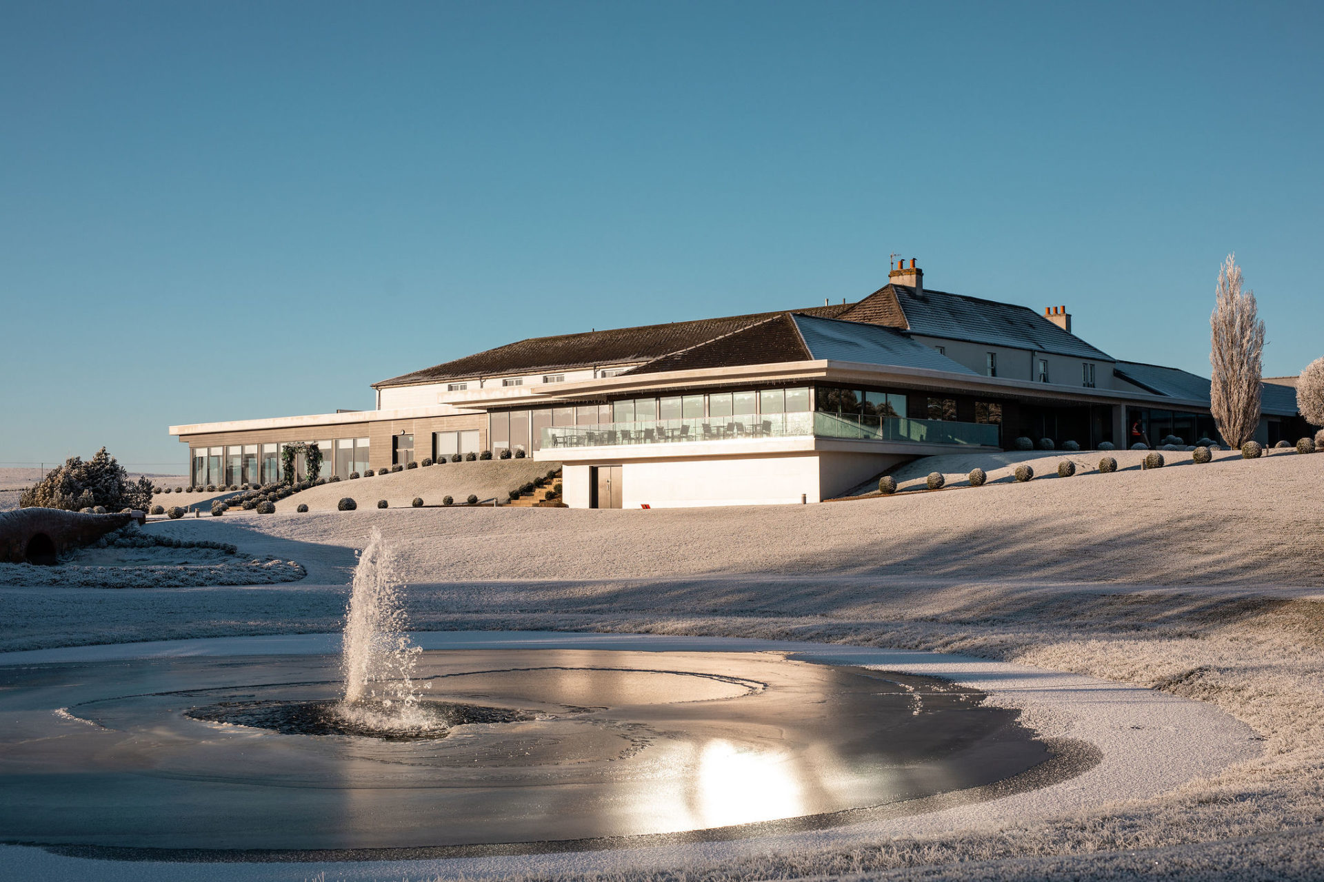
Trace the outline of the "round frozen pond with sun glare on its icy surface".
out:
[[[984,799],[1057,763],[977,692],[775,652],[434,649],[416,669],[432,737],[291,734],[290,714],[339,697],[338,665],[0,668],[0,840],[440,856],[726,838]]]

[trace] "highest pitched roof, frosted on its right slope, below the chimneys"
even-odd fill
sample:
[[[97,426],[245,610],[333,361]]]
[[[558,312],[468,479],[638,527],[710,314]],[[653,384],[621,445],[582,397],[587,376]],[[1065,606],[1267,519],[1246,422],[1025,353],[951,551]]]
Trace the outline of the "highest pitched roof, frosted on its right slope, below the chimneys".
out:
[[[1112,361],[1108,353],[1067,333],[1034,309],[947,291],[888,284],[835,317],[906,328],[925,337]]]

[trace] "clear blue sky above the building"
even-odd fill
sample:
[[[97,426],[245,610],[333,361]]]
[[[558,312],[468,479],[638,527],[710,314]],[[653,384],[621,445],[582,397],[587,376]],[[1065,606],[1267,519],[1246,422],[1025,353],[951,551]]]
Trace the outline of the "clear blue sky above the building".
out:
[[[0,464],[512,340],[931,287],[1324,354],[1324,5],[0,5]]]

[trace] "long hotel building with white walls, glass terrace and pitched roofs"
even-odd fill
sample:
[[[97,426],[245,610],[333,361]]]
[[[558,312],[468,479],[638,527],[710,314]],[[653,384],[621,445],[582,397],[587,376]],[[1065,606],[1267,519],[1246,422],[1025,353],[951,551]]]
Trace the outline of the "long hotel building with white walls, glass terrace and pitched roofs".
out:
[[[275,480],[316,442],[322,476],[453,454],[564,465],[581,508],[817,502],[915,456],[1027,436],[1082,447],[1217,438],[1209,381],[1119,361],[1064,307],[924,288],[894,268],[855,303],[535,337],[372,383],[376,410],[172,426],[195,484]],[[1266,383],[1259,439],[1307,432]]]

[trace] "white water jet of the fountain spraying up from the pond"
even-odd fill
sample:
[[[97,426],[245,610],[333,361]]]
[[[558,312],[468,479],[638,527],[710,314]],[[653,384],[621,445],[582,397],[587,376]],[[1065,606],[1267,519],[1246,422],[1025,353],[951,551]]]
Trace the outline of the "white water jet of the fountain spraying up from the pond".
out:
[[[409,641],[408,631],[395,554],[381,540],[381,530],[372,528],[354,570],[354,591],[346,608],[342,714],[381,729],[434,725],[418,713],[414,665],[421,649]]]

